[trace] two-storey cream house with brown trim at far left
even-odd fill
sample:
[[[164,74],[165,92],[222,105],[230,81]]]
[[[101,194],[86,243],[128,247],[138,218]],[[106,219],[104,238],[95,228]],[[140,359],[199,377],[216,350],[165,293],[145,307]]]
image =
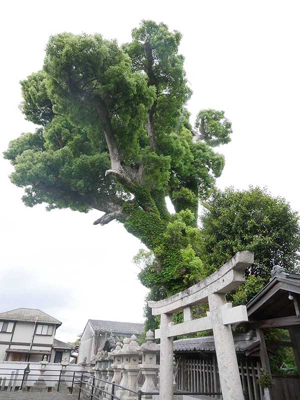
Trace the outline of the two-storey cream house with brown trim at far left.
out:
[[[0,312],[0,360],[50,362],[69,360],[72,346],[54,338],[58,319],[39,309]]]

